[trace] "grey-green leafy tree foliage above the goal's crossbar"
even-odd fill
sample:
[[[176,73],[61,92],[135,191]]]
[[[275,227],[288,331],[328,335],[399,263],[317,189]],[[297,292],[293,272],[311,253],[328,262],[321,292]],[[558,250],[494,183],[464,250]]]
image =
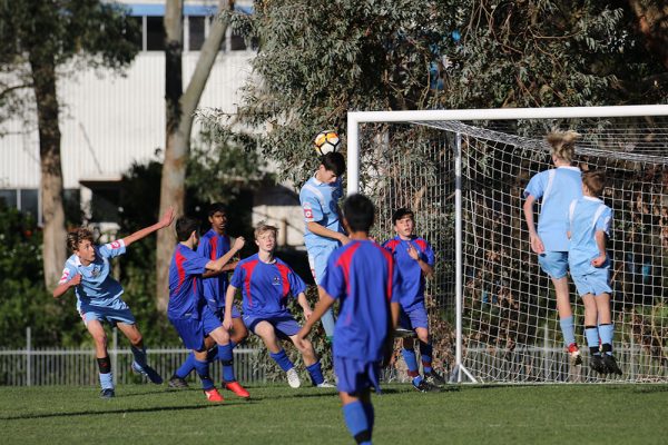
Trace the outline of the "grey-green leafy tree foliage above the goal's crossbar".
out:
[[[203,118],[296,184],[311,139],[343,130],[347,110],[666,102],[666,69],[621,0],[272,0],[232,23],[259,42],[259,81],[233,125]]]

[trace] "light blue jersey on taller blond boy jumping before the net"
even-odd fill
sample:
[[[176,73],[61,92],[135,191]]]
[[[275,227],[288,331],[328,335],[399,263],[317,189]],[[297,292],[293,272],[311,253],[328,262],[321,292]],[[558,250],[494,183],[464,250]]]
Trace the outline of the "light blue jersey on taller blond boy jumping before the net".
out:
[[[577,167],[558,167],[534,175],[524,198],[540,200],[538,236],[546,251],[568,251],[568,206],[582,197],[582,172]]]

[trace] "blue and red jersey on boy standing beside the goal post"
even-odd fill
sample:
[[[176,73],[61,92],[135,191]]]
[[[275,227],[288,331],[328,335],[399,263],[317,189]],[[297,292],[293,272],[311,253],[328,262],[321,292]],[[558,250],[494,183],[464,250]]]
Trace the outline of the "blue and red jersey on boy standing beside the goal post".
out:
[[[412,245],[420,259],[434,267],[434,251],[431,245],[424,238],[413,236],[411,240],[403,240],[399,236],[386,240],[383,247],[392,253],[399,275],[401,277],[401,306],[410,309],[413,305],[424,301],[424,274],[415,261],[409,255],[409,245]]]

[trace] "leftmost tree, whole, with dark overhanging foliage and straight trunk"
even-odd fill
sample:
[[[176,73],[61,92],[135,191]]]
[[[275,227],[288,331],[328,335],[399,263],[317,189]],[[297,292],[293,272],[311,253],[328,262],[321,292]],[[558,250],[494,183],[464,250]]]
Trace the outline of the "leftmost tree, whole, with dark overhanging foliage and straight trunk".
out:
[[[138,32],[126,9],[96,0],[0,2],[0,72],[8,73],[0,105],[33,100],[37,108],[47,286],[58,281],[67,257],[57,80],[81,63],[125,68],[138,51]],[[12,96],[23,89],[35,97]]]

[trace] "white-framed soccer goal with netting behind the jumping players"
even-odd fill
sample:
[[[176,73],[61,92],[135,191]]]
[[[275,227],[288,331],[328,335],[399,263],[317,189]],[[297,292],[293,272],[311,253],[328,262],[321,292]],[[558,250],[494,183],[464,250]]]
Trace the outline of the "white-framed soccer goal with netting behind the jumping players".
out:
[[[529,246],[522,191],[551,168],[552,129],[581,134],[576,165],[607,172],[620,377],[589,369],[570,277],[583,365],[569,364]],[[348,192],[377,206],[376,239],[410,207],[436,253],[430,329],[452,382],[668,382],[668,106],[348,112],[347,168]]]

